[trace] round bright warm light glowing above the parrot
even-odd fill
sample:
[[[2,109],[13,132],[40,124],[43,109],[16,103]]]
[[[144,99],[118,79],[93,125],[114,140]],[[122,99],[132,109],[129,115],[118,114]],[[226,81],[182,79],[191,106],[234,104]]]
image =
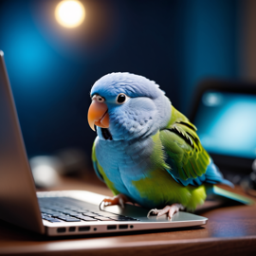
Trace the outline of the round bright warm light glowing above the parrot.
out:
[[[74,0],[62,1],[55,9],[57,21],[64,27],[78,27],[82,24],[85,10],[82,3]]]

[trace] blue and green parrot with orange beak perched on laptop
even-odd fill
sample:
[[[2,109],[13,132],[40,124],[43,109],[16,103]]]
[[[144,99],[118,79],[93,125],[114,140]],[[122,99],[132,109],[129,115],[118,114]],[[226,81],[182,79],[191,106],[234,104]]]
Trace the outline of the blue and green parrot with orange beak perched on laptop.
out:
[[[132,202],[172,219],[179,210],[204,204],[215,184],[233,187],[203,148],[196,127],[154,81],[110,73],[94,83],[90,96],[87,119],[97,131],[93,167],[114,194],[103,200],[105,206]]]

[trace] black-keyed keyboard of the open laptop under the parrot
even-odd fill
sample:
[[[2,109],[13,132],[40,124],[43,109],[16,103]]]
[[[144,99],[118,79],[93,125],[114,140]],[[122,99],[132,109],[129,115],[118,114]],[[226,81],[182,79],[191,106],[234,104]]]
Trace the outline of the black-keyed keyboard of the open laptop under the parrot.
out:
[[[42,219],[56,222],[138,221],[68,197],[39,197]]]

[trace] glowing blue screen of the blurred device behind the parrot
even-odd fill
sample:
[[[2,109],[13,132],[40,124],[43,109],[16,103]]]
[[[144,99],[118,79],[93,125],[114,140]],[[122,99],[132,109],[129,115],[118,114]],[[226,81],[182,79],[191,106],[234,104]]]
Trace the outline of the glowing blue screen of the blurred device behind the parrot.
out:
[[[208,90],[193,123],[209,153],[256,158],[256,95]]]

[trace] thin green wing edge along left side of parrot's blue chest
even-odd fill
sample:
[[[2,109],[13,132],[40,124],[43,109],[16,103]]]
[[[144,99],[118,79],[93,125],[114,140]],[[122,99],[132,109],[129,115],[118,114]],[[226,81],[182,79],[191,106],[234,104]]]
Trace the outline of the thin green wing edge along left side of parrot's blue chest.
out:
[[[104,173],[103,168],[101,167],[98,159],[97,159],[97,155],[96,155],[96,150],[95,150],[95,146],[96,146],[96,139],[93,143],[93,148],[92,148],[92,162],[93,162],[93,168],[95,173],[98,175],[98,177],[106,183],[107,187],[116,195],[119,194],[119,191],[116,190],[113,182],[111,182],[108,177],[106,176],[106,174]]]

